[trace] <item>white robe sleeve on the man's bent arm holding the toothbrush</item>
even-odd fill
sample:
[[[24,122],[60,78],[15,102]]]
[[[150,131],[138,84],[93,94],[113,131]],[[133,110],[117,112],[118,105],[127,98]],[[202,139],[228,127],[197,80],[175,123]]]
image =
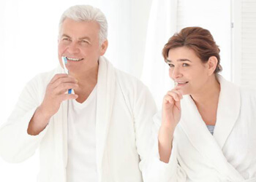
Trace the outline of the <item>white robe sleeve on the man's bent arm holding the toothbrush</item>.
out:
[[[32,79],[21,93],[8,121],[0,127],[0,155],[7,162],[22,162],[31,157],[48,127],[39,135],[29,135],[29,122],[39,106],[38,77]]]

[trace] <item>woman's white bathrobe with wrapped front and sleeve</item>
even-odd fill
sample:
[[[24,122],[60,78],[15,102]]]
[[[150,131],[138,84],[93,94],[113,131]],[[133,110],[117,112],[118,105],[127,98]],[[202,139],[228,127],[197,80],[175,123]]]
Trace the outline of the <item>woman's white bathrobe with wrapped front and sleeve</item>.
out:
[[[154,154],[143,172],[145,181],[256,181],[256,92],[222,76],[218,79],[221,91],[214,135],[190,95],[184,95],[170,161],[159,161],[156,132]],[[154,122],[158,129],[161,113]]]

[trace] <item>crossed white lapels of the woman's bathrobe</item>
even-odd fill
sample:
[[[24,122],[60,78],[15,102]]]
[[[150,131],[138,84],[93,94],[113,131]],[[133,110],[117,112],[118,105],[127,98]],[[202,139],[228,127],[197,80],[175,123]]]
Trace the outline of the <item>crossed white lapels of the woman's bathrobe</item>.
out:
[[[222,83],[223,82],[221,81],[221,87]],[[230,85],[227,87],[230,87]],[[206,159],[215,166],[215,169],[219,171],[219,173],[225,175],[230,181],[242,181],[244,178],[232,165],[230,165],[230,163],[227,162],[227,159],[222,153],[222,146],[225,144],[225,141],[227,140],[238,116],[237,113],[235,116],[230,116],[230,114],[232,115],[233,110],[229,111],[230,107],[227,106],[234,104],[227,103],[225,97],[233,97],[234,95],[231,93],[229,94],[230,95],[227,94],[226,86],[223,86],[220,93],[221,100],[219,100],[218,106],[218,112],[220,113],[217,114],[217,122],[219,122],[219,124],[216,130],[214,129],[214,137],[217,139],[215,139],[208,131],[206,124],[203,122],[203,119],[197,111],[197,107],[190,95],[184,95],[184,99],[181,100],[180,124],[184,132],[187,134],[189,141],[192,143],[192,146],[194,146],[203,157],[206,157]],[[235,100],[235,98],[233,98],[233,100]],[[225,106],[221,106],[223,103],[225,103]],[[237,107],[238,106],[235,106],[234,108]],[[224,111],[222,111],[222,109],[224,109]],[[222,122],[224,124],[222,124]]]

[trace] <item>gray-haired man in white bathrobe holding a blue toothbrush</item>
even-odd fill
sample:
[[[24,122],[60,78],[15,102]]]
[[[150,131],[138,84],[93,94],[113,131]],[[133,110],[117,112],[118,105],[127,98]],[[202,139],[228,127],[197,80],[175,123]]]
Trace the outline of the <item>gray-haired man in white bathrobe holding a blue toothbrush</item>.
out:
[[[59,25],[59,68],[26,85],[0,129],[0,153],[9,162],[28,159],[39,147],[40,182],[143,181],[156,107],[138,79],[102,57],[107,34],[99,9],[67,9]]]

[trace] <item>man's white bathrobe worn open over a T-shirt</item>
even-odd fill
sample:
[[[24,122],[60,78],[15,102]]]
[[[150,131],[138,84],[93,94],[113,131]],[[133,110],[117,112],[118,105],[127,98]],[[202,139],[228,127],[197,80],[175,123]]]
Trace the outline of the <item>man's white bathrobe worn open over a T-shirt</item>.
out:
[[[39,148],[39,182],[66,181],[67,101],[37,136],[27,134],[34,111],[42,103],[50,79],[61,67],[39,74],[23,90],[9,121],[0,129],[0,154],[22,162]],[[102,181],[143,181],[139,162],[147,157],[156,106],[148,89],[133,76],[99,59],[97,81],[97,173]]]

